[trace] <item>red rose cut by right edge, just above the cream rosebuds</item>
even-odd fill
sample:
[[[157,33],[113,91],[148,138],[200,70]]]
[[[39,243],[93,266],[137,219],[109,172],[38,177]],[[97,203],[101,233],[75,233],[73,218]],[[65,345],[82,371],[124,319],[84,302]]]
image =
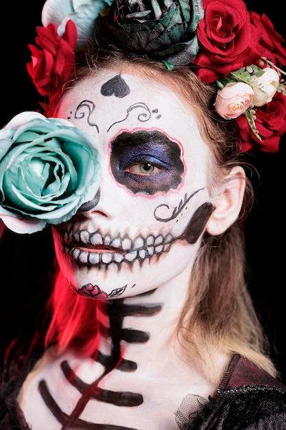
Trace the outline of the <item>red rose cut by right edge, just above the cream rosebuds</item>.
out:
[[[261,38],[261,57],[266,57],[274,65],[283,67],[286,65],[286,49],[282,43],[285,43],[283,37],[276,32],[274,25],[267,15],[260,16],[257,12],[250,12],[251,22],[259,28]]]

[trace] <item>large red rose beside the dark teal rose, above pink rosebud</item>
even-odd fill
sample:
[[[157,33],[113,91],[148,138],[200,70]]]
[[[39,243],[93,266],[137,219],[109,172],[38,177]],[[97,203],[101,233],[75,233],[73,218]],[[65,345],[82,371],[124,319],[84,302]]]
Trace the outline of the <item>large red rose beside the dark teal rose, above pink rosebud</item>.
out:
[[[261,57],[261,30],[250,22],[250,12],[242,0],[204,0],[204,18],[198,25],[200,51],[193,63],[206,83],[230,71],[257,63]]]

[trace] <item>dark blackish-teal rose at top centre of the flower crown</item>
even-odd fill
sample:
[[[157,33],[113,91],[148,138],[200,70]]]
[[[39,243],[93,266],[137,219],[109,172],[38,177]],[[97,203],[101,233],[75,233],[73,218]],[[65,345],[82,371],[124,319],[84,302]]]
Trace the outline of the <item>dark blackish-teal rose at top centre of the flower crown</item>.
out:
[[[186,65],[198,53],[196,30],[203,17],[200,0],[115,0],[108,30],[121,49],[170,65]]]

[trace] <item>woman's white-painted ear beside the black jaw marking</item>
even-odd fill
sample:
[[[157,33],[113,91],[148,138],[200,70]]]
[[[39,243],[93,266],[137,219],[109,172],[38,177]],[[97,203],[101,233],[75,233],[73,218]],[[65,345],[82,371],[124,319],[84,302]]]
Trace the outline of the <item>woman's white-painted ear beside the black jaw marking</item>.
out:
[[[246,174],[241,166],[235,166],[224,179],[213,196],[215,210],[206,224],[206,231],[213,236],[224,233],[237,220],[246,188]]]

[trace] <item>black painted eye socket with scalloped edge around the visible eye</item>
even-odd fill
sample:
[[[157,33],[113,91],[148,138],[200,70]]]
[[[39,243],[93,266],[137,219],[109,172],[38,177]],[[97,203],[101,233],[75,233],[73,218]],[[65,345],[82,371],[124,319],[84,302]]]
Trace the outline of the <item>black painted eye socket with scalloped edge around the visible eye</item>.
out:
[[[134,194],[176,189],[184,172],[180,146],[160,131],[123,132],[115,137],[110,166],[115,179]]]

